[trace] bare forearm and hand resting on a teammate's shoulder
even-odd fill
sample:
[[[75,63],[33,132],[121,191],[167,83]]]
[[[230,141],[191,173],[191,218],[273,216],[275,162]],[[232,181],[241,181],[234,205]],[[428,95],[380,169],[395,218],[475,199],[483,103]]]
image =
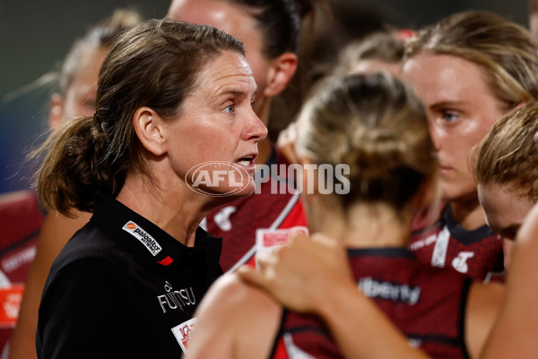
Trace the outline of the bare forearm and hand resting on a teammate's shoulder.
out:
[[[343,246],[323,236],[315,238],[297,235],[276,255],[261,259],[261,272],[242,267],[239,275],[292,310],[316,312],[345,357],[428,358],[409,346],[377,305],[362,295],[351,278]]]

